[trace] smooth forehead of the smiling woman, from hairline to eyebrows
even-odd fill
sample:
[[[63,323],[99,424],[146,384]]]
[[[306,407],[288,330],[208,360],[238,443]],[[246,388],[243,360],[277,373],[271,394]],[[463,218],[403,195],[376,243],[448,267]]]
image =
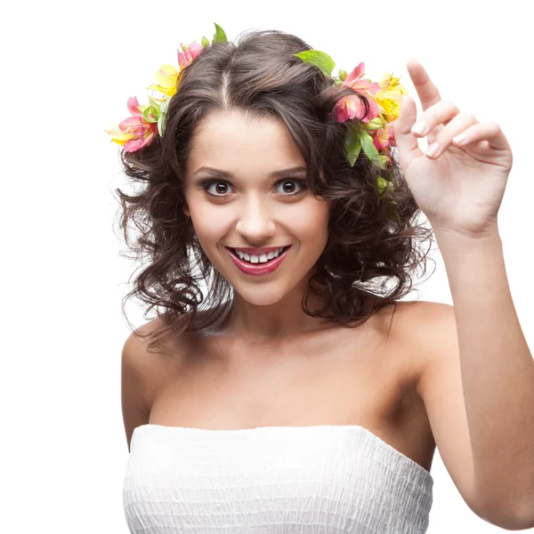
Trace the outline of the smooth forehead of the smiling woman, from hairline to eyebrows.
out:
[[[239,174],[303,165],[286,125],[274,117],[249,117],[239,110],[214,112],[193,134],[188,171],[214,166]]]

